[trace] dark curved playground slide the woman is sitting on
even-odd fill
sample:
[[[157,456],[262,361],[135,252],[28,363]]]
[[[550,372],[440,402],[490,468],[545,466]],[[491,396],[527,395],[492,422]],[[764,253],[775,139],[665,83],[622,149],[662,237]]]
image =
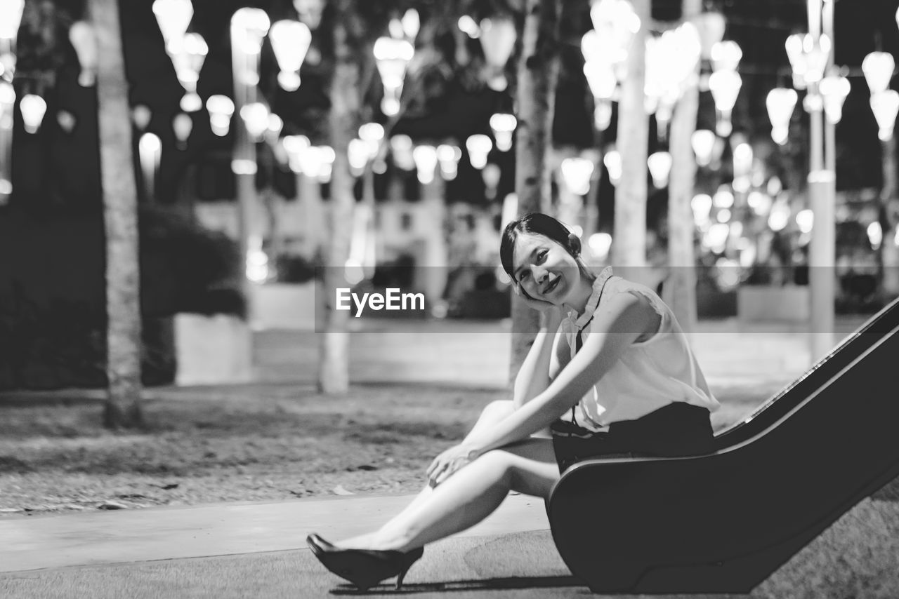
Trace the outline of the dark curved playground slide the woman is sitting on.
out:
[[[597,593],[748,593],[899,476],[899,300],[716,436],[714,454],[575,464],[547,502]]]

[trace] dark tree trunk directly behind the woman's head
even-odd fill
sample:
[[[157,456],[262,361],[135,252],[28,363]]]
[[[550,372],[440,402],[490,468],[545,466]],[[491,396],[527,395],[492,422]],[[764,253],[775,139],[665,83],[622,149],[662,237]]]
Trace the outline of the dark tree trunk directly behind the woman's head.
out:
[[[519,216],[548,212],[552,203],[549,154],[558,77],[560,0],[527,0],[518,61],[515,193]],[[539,330],[539,314],[512,295],[512,381]]]

